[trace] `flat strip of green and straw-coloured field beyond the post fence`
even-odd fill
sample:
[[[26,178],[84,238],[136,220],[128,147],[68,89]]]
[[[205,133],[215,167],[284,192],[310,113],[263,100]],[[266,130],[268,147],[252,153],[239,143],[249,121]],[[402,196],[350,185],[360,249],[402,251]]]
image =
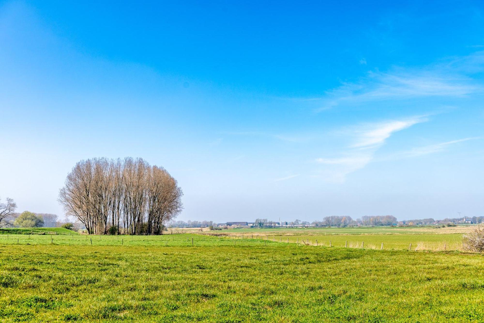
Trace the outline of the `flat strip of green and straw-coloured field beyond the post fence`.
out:
[[[67,230],[69,231],[69,230]],[[1,234],[0,243],[62,245],[136,245],[136,246],[270,246],[296,243],[308,247],[347,247],[383,250],[462,250],[462,234],[365,234],[323,236],[263,236],[218,233],[167,234],[161,236],[108,236],[72,234]]]

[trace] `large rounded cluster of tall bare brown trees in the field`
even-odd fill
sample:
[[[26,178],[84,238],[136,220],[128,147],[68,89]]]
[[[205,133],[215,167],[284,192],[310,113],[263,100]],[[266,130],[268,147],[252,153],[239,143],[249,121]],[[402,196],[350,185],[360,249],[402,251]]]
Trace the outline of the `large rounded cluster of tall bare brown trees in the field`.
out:
[[[181,210],[181,188],[163,168],[141,158],[79,161],[59,202],[92,234],[162,234]]]

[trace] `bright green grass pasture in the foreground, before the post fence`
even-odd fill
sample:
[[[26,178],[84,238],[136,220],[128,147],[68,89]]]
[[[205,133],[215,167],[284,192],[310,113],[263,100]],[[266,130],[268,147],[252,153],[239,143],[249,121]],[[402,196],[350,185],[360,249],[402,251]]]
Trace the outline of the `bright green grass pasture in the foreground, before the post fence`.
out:
[[[99,243],[114,242],[104,238]],[[196,235],[128,238],[133,244],[0,240],[0,320],[484,320],[481,255],[264,246],[256,239],[234,246],[230,238]],[[155,238],[171,242],[160,246]]]

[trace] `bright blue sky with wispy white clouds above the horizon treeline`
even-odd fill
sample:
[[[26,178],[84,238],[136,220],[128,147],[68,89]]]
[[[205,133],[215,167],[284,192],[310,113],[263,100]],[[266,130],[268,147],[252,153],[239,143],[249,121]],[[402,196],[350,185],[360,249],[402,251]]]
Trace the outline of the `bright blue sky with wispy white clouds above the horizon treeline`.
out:
[[[0,197],[142,157],[181,220],[484,215],[478,1],[0,2]]]

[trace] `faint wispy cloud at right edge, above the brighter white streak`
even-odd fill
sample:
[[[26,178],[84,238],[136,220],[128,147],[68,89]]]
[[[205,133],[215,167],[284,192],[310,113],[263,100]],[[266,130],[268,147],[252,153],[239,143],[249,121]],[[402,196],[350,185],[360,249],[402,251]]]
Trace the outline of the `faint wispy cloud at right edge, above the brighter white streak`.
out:
[[[365,64],[362,59],[360,64]],[[342,82],[321,97],[296,101],[319,100],[316,112],[335,107],[354,106],[385,100],[409,100],[424,97],[466,97],[482,92],[484,86],[474,73],[484,70],[484,52],[442,60],[420,68],[393,67],[381,72],[372,70],[357,81]],[[308,102],[309,104],[310,102]],[[315,103],[311,103],[315,104]]]

